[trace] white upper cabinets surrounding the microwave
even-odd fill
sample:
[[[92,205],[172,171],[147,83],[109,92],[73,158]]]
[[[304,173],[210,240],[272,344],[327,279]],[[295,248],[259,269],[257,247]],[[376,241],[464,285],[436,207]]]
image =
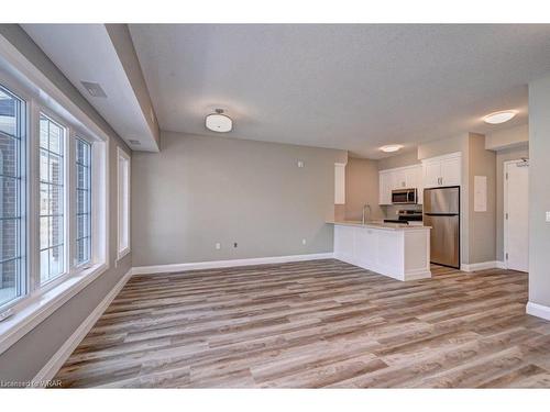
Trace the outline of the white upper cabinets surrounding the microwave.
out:
[[[422,193],[422,166],[405,166],[395,169],[381,170],[380,174],[380,204],[392,204],[392,190],[413,189],[418,190],[418,201],[421,204]]]

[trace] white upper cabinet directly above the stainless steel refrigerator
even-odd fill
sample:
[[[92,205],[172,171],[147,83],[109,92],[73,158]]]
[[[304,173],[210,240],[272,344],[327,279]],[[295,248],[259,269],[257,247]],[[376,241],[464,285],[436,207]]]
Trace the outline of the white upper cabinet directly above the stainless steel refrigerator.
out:
[[[462,176],[462,155],[431,157],[422,160],[424,187],[460,186]]]

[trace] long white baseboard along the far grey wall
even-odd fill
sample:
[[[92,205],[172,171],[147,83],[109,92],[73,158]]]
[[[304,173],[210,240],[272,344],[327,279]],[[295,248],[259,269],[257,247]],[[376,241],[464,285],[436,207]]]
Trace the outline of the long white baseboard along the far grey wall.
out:
[[[249,259],[229,259],[229,260],[196,261],[189,264],[138,266],[132,268],[132,275],[169,274],[169,272],[197,270],[197,269],[217,269],[224,267],[284,264],[289,261],[319,260],[319,259],[332,259],[332,258],[333,258],[333,253],[329,252],[329,253],[316,253],[309,255],[253,257]]]

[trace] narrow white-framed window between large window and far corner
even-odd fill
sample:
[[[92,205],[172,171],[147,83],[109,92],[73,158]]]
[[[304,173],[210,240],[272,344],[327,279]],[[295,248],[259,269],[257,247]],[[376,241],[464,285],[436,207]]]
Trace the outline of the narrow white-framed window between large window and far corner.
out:
[[[118,149],[119,259],[130,252],[130,156]]]

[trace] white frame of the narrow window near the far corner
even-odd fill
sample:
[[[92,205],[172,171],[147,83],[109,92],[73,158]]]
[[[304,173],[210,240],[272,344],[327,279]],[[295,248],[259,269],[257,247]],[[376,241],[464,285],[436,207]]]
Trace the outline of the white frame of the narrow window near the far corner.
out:
[[[120,169],[120,160],[125,162],[128,165],[127,169],[127,175],[125,175],[125,181],[123,181],[122,176],[121,176],[121,169]],[[124,152],[120,146],[117,147],[117,260],[122,259],[125,255],[128,255],[131,250],[131,183],[132,183],[132,165],[131,165],[131,157],[130,155]],[[122,183],[127,186],[127,202],[125,207],[127,210],[122,210],[122,201],[121,197],[124,196],[122,192]],[[128,236],[128,245],[121,247],[121,225],[122,223],[127,221],[127,236]]]

